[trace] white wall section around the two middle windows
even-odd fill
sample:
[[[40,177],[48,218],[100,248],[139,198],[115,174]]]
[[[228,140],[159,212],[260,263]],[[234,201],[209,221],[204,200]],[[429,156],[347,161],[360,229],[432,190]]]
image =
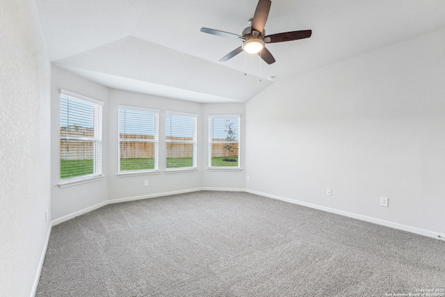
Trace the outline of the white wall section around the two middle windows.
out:
[[[145,107],[159,110],[159,173],[153,175],[139,175],[118,177],[118,105]],[[108,113],[108,185],[110,200],[120,198],[134,198],[145,195],[154,195],[175,191],[184,191],[200,188],[202,185],[202,154],[201,147],[197,147],[197,166],[199,170],[194,172],[165,173],[165,111],[180,111],[193,113],[198,116],[198,122],[202,117],[202,104],[186,102],[176,99],[131,93],[122,90],[109,91]],[[197,127],[198,141],[202,141],[202,129]],[[144,186],[144,180],[149,181],[149,186]]]

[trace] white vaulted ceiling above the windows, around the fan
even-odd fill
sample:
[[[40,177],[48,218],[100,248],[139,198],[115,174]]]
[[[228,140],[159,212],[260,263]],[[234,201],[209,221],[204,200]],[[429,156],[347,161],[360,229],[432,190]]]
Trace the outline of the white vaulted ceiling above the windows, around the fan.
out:
[[[194,102],[247,102],[283,79],[445,28],[444,0],[272,0],[266,33],[312,29],[220,62],[257,0],[35,0],[54,65],[110,88]]]

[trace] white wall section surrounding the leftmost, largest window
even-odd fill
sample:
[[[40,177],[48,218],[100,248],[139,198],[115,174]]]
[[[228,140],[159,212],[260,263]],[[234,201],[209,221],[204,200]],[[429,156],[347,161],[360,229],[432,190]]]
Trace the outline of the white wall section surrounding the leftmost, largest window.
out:
[[[51,201],[53,219],[81,211],[108,199],[108,180],[60,188],[60,89],[104,102],[103,172],[108,175],[108,89],[70,72],[51,67]]]

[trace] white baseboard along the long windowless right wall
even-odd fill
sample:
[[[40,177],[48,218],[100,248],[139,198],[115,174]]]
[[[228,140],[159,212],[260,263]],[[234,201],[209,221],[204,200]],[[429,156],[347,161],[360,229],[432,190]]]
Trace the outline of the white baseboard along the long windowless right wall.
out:
[[[445,239],[445,235],[444,234],[439,234],[439,233],[436,233],[436,232],[423,230],[423,229],[420,229],[420,228],[417,228],[417,227],[412,227],[412,226],[408,226],[408,225],[394,223],[394,222],[391,222],[389,220],[381,220],[380,218],[373,218],[371,216],[364,216],[362,214],[354,214],[354,213],[348,212],[348,211],[342,211],[342,210],[333,209],[333,208],[330,208],[330,207],[323,207],[323,206],[317,205],[317,204],[312,204],[312,203],[302,202],[302,201],[299,201],[299,200],[293,200],[293,199],[289,199],[289,198],[284,198],[284,197],[281,197],[281,196],[272,195],[272,194],[268,194],[268,193],[262,193],[262,192],[259,192],[259,191],[253,191],[253,190],[250,190],[248,188],[246,188],[245,191],[247,193],[252,193],[252,194],[264,196],[264,197],[267,197],[267,198],[273,198],[273,199],[277,199],[277,200],[282,200],[284,202],[298,204],[298,205],[302,205],[304,207],[310,207],[310,208],[313,208],[313,209],[327,211],[327,212],[330,212],[332,214],[339,214],[341,216],[348,216],[349,218],[356,218],[357,220],[364,220],[364,221],[369,222],[369,223],[375,223],[375,224],[378,224],[378,225],[383,225],[383,226],[386,226],[386,227],[391,227],[391,228],[394,228],[394,229],[403,230],[403,231],[411,232],[411,233],[414,233],[414,234],[420,234],[420,235],[423,235],[423,236],[432,237],[434,239],[442,239],[442,240]]]

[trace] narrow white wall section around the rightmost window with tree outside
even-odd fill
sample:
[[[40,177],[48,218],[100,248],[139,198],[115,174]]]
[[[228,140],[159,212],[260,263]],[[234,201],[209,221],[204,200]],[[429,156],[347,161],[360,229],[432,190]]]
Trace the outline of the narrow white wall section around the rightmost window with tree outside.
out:
[[[244,189],[245,170],[245,104],[244,103],[213,103],[202,106],[202,130],[203,137],[202,161],[204,175],[202,186],[204,188],[218,189]],[[209,167],[209,115],[241,115],[240,150],[239,160],[241,171],[216,171],[207,170]]]

